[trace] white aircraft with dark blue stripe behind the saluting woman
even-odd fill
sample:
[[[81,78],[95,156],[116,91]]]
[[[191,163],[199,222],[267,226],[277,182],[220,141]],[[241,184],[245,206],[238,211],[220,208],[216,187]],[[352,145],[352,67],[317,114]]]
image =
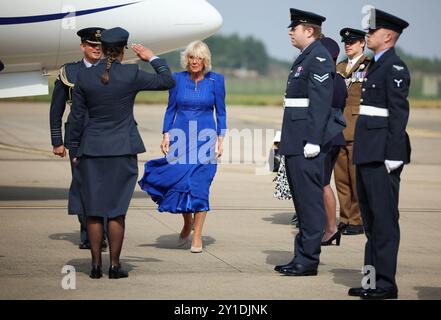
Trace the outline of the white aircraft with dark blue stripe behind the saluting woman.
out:
[[[221,25],[206,0],[1,1],[0,98],[48,94],[50,72],[81,58],[76,32],[82,28],[119,26],[130,32],[130,43],[161,54],[205,39]],[[131,50],[126,56],[136,58]]]

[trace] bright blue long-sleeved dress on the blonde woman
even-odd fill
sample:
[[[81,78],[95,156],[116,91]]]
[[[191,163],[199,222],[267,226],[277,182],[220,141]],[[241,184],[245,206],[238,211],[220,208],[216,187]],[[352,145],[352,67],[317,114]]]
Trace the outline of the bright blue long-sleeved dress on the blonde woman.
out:
[[[159,212],[209,211],[216,141],[226,130],[224,77],[209,72],[197,85],[187,71],[174,78],[163,126],[163,133],[170,134],[169,153],[148,161],[138,183]]]

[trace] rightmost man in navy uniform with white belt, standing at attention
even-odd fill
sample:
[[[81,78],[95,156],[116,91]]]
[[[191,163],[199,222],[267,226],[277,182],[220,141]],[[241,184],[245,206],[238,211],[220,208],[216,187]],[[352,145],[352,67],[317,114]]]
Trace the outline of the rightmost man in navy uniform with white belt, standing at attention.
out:
[[[403,164],[410,162],[406,133],[410,75],[394,46],[409,24],[384,11],[372,11],[375,19],[370,22],[367,45],[375,56],[362,85],[354,164],[367,237],[364,263],[375,268],[376,281],[375,289],[352,288],[348,294],[363,299],[396,299],[400,174]]]

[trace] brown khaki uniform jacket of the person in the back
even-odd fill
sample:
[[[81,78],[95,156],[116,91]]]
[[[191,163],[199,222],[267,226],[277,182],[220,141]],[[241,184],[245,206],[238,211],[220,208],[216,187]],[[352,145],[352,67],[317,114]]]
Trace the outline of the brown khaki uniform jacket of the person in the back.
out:
[[[345,78],[348,88],[348,97],[344,111],[346,129],[343,131],[347,142],[354,141],[355,123],[360,112],[361,85],[364,83],[370,61],[371,58],[365,55],[361,56],[349,72],[346,72],[347,59],[337,65],[337,72]]]

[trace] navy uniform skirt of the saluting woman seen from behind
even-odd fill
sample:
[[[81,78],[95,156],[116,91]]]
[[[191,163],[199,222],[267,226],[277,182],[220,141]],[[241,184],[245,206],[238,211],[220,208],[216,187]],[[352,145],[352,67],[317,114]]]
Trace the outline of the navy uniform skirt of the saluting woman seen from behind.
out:
[[[125,215],[138,179],[137,155],[83,156],[75,165],[84,214],[116,218]]]

